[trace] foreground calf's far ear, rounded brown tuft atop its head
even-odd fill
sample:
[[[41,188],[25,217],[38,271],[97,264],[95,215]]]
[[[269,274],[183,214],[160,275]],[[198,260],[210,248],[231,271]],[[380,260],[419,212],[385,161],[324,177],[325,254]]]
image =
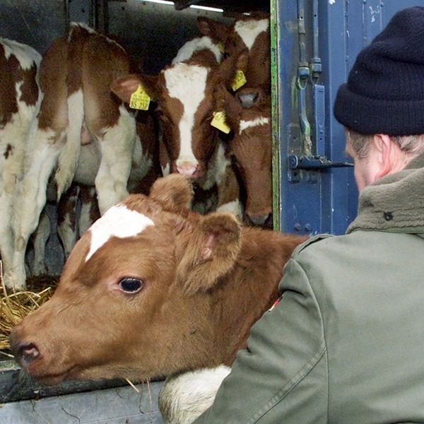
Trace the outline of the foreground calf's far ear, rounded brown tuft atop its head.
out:
[[[192,204],[193,186],[184,175],[170,174],[156,179],[149,197],[157,201],[165,211],[180,213]]]

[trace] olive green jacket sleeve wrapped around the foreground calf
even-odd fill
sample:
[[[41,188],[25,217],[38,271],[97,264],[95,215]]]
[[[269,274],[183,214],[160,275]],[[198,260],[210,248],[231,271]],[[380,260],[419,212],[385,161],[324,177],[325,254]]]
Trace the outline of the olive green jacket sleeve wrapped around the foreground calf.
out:
[[[194,422],[326,423],[328,367],[322,316],[302,267],[285,266],[281,301],[252,327],[230,375]]]

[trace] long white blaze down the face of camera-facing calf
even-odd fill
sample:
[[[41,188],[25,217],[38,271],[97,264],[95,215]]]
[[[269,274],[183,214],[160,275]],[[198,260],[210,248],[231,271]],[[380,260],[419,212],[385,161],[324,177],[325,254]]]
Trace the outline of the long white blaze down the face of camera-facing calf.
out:
[[[178,63],[164,71],[167,92],[170,98],[178,99],[184,108],[178,124],[180,146],[178,160],[197,163],[192,151],[194,114],[205,98],[206,78],[209,68]]]

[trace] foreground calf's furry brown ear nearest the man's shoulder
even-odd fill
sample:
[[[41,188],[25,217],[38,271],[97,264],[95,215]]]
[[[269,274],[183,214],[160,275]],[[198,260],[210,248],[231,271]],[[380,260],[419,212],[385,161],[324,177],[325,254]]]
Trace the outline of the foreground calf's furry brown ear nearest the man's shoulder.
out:
[[[192,229],[177,269],[177,283],[188,295],[215,287],[235,264],[241,228],[231,213],[211,213]]]

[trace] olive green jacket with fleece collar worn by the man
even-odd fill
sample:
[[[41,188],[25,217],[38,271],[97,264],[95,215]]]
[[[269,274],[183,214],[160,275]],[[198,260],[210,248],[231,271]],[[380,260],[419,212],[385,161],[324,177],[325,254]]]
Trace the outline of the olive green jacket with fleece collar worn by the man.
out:
[[[424,423],[421,166],[366,187],[346,235],[295,250],[196,423]]]

